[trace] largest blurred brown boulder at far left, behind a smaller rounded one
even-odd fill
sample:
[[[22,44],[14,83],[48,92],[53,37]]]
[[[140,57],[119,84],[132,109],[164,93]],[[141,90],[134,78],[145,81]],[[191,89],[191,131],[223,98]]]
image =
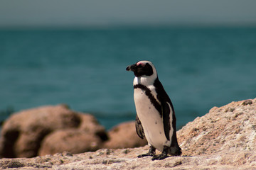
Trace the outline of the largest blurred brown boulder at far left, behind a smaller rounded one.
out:
[[[92,115],[76,113],[65,105],[44,106],[21,111],[5,121],[1,130],[0,157],[36,157],[46,135],[70,128],[107,140],[105,129]]]

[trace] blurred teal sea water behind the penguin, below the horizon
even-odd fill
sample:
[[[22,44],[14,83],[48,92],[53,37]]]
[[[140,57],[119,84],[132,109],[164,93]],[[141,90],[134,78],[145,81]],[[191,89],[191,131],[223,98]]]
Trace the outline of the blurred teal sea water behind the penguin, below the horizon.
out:
[[[213,106],[256,97],[256,28],[0,30],[0,120],[67,103],[107,129],[134,120],[129,64],[151,60],[177,127]]]

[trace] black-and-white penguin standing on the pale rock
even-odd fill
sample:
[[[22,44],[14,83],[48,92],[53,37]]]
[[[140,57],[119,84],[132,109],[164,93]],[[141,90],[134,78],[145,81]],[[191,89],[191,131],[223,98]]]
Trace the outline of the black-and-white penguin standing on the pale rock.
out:
[[[174,106],[159,81],[156,68],[149,61],[129,65],[127,71],[134,72],[134,103],[136,108],[137,135],[149,143],[149,152],[138,157],[151,156],[161,160],[181,155],[176,137]],[[156,149],[161,154],[156,155]]]

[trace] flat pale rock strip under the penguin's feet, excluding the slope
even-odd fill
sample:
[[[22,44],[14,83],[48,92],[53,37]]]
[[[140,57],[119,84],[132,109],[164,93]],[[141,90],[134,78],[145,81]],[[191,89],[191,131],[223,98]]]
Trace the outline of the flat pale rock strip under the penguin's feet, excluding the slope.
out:
[[[149,147],[133,149],[99,149],[82,154],[46,155],[45,157],[0,159],[2,169],[255,169],[256,154],[197,155],[193,157],[167,157],[151,161],[151,157],[137,158]]]

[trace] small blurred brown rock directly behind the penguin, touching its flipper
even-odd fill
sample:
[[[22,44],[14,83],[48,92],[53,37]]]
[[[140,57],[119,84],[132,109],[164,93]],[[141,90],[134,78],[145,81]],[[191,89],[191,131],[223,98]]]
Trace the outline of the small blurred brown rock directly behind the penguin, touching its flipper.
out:
[[[137,135],[135,122],[121,123],[109,132],[110,140],[105,142],[103,148],[127,148],[142,147],[147,144],[146,139],[142,140]]]

